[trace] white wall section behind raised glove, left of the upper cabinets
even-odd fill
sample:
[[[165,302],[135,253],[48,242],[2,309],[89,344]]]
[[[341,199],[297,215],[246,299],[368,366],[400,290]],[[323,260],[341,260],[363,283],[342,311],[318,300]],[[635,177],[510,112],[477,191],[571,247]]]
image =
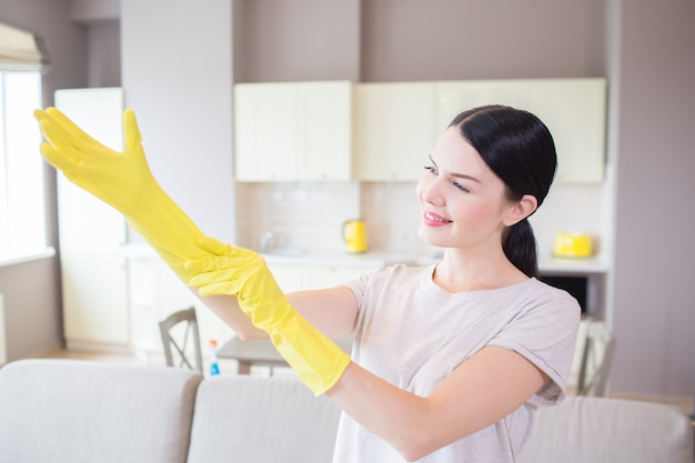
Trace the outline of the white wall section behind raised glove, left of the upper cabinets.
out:
[[[122,0],[121,53],[155,178],[204,233],[234,241],[231,0]]]

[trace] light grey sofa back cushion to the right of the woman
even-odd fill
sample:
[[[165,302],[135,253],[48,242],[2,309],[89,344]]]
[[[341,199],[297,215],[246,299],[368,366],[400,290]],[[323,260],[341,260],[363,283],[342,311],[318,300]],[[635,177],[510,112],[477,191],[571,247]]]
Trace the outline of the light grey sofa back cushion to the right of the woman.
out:
[[[568,396],[538,409],[518,463],[693,463],[693,425],[674,406]]]

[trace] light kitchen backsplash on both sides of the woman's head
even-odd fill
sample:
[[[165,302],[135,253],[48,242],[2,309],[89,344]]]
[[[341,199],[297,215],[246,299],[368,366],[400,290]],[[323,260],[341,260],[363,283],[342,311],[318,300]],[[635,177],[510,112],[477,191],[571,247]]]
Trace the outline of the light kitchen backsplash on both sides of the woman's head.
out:
[[[582,232],[592,235],[605,255],[612,220],[606,188],[606,183],[555,184],[531,220],[540,252],[550,255],[558,232]],[[362,218],[371,251],[430,249],[417,235],[414,183],[238,183],[236,189],[236,234],[246,248],[259,249],[261,235],[270,231],[274,246],[342,251],[343,222]]]

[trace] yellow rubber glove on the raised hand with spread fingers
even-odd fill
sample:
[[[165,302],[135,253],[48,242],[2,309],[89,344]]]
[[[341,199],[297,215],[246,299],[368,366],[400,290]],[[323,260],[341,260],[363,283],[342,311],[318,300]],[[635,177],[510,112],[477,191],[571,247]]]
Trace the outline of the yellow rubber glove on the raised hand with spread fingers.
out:
[[[195,240],[202,232],[154,180],[142,149],[135,114],[123,112],[123,152],[91,138],[56,108],[34,111],[46,142],[41,153],[77,185],[118,209],[128,223],[188,283],[187,260],[204,252]]]

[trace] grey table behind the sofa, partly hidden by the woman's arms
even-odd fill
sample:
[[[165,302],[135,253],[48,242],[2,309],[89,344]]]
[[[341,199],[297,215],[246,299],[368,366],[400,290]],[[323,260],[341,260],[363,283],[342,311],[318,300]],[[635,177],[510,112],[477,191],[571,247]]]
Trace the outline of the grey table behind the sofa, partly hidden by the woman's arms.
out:
[[[352,351],[353,336],[335,340],[335,343],[346,353]],[[232,338],[218,350],[218,358],[233,359],[239,362],[239,374],[249,374],[251,366],[286,366],[282,355],[278,353],[270,340],[242,341],[238,336]]]

